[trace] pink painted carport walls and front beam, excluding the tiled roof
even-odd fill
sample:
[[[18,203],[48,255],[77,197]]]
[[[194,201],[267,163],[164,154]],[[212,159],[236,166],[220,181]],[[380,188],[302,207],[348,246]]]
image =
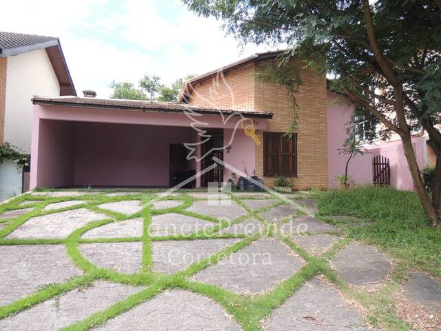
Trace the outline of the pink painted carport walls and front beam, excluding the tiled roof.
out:
[[[35,105],[33,116],[31,189],[88,184],[167,186],[168,144],[199,138],[184,114]],[[223,123],[213,115],[197,119],[207,123],[206,128],[223,128],[225,141],[237,122]],[[265,128],[266,120],[259,119],[256,129]],[[240,170],[245,164],[252,174],[252,139],[237,130],[224,159]],[[189,163],[189,168],[200,170],[195,161]],[[226,171],[225,181],[230,176]]]

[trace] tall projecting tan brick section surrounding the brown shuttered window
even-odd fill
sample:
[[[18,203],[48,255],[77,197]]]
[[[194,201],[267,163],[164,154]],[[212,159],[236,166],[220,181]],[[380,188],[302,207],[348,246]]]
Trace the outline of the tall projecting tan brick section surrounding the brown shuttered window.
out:
[[[261,72],[266,64],[256,65]],[[302,84],[296,94],[298,103],[297,177],[290,178],[294,188],[327,188],[327,90],[325,75],[312,69],[300,71]],[[287,132],[293,119],[291,99],[286,88],[276,83],[256,81],[256,110],[274,112],[268,121],[268,132]],[[263,141],[263,132],[258,132]],[[256,146],[256,176],[266,185],[273,185],[274,177],[263,177],[263,145]]]

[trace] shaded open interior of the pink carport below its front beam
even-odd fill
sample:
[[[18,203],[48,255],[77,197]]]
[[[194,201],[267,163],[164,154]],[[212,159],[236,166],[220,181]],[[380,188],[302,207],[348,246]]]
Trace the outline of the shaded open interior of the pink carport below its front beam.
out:
[[[176,172],[196,172],[183,146],[195,136],[188,127],[44,119],[37,187],[167,187]]]

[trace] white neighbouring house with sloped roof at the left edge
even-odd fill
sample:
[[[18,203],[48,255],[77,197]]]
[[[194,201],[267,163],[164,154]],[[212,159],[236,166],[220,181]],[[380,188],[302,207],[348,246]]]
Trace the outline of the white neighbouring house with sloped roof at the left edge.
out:
[[[30,154],[34,95],[76,95],[58,38],[0,32],[0,145]],[[12,161],[0,164],[0,201],[28,186]]]

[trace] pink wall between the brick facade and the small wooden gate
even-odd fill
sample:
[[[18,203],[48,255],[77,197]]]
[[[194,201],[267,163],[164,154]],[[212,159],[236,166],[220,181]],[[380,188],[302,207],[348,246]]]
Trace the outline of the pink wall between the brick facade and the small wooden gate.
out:
[[[338,154],[348,134],[347,123],[351,120],[353,106],[343,97],[327,92],[327,128],[328,128],[328,181],[329,187],[336,187],[336,176],[345,172],[347,155]],[[349,163],[349,175],[356,185],[372,183],[372,155],[358,155]]]

